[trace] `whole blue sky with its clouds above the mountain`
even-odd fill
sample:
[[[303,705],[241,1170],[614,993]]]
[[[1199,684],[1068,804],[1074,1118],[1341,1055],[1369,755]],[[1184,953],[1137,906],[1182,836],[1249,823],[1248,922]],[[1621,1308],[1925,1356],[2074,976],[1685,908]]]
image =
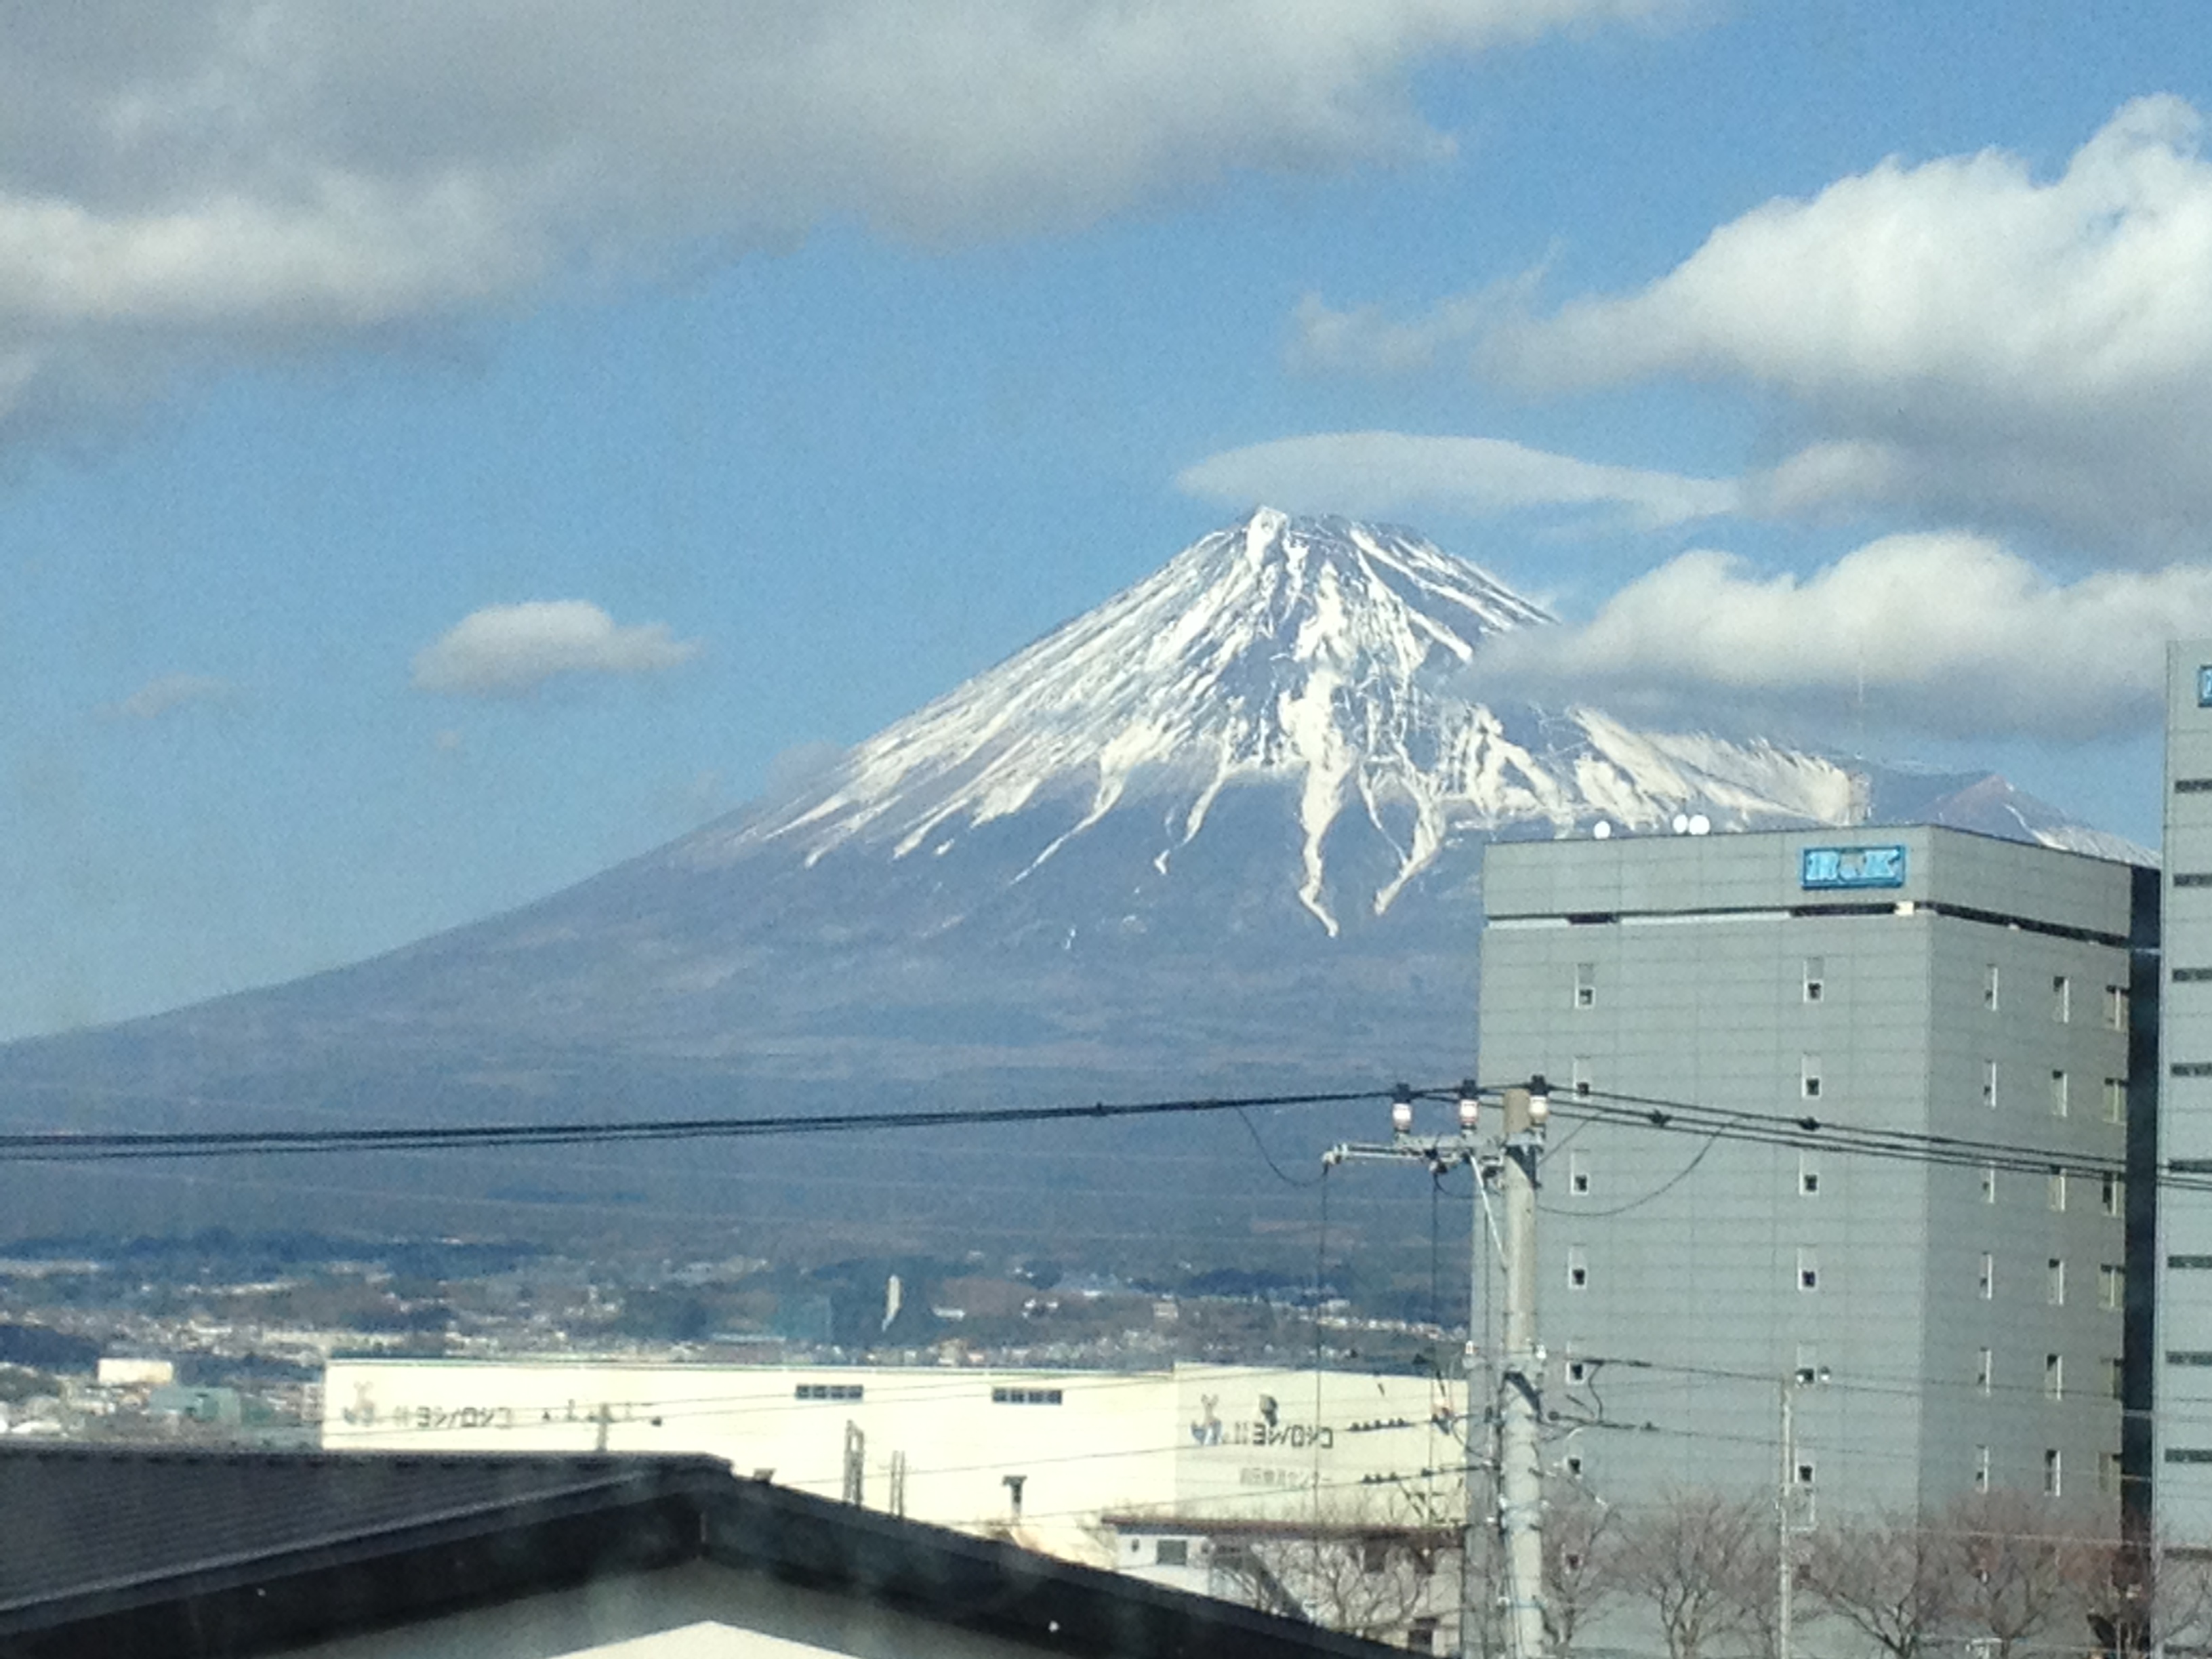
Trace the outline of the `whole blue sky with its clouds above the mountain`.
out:
[[[551,891],[1285,489],[2157,836],[2194,7],[9,13],[0,1037]]]

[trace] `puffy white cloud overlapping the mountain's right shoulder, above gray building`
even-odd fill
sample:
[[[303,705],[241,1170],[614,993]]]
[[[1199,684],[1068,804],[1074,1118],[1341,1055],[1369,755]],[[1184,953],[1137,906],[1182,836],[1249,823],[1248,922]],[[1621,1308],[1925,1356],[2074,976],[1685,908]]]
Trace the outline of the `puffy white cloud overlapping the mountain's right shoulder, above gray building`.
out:
[[[2055,584],[1980,535],[1889,535],[1807,575],[1683,553],[1579,628],[1502,635],[1484,672],[1624,708],[1796,708],[1940,734],[2150,726],[2163,641],[2212,633],[2212,566]]]

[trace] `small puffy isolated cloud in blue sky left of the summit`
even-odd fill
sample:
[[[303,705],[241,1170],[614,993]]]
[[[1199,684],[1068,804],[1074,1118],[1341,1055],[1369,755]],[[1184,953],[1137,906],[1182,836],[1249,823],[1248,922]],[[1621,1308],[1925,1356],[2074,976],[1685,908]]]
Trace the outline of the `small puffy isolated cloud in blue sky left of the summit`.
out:
[[[699,655],[664,622],[628,628],[584,599],[471,611],[416,653],[414,686],[462,697],[518,697],[560,675],[655,675]]]

